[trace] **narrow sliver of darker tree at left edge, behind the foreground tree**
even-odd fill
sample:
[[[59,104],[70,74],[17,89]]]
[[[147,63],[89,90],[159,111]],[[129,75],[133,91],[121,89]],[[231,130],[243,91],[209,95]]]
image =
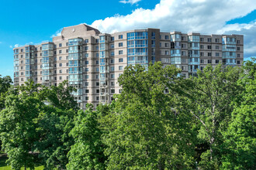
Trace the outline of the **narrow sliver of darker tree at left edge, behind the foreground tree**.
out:
[[[0,110],[5,108],[5,97],[11,85],[12,78],[10,76],[1,77],[0,75]]]

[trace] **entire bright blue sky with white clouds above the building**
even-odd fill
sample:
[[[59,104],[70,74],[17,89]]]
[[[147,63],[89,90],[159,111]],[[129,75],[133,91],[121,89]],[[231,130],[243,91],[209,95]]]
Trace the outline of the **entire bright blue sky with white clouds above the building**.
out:
[[[101,32],[150,27],[244,34],[244,55],[256,56],[255,9],[254,0],[1,1],[0,74],[13,74],[12,47],[51,40],[80,23]]]

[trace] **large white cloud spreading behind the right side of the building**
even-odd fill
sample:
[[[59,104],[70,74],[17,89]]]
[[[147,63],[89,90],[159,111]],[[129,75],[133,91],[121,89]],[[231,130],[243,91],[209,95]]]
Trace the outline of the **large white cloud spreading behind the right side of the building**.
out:
[[[158,28],[164,32],[176,30],[244,34],[246,56],[256,56],[255,22],[226,24],[227,21],[243,17],[254,9],[255,0],[161,0],[154,9],[137,8],[130,15],[117,14],[96,20],[91,26],[101,32]]]

